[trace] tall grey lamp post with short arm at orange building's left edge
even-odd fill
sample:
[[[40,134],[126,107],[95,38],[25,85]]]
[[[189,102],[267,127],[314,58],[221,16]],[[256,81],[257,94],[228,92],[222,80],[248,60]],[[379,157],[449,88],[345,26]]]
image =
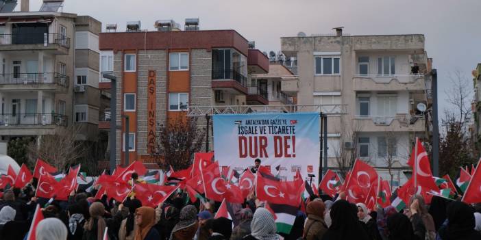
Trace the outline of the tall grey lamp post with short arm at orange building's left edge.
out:
[[[114,75],[110,74],[103,74],[102,77],[104,79],[110,79],[110,133],[109,133],[109,142],[110,142],[110,158],[109,158],[109,165],[110,165],[110,174],[112,174],[115,170],[115,131],[116,131],[116,113],[117,113],[117,105],[116,105],[116,81],[117,78]]]

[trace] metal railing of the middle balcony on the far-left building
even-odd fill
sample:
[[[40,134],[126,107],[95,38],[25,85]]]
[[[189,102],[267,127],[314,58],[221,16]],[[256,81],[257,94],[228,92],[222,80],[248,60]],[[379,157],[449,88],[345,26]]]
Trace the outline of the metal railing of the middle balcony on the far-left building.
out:
[[[58,72],[0,74],[1,84],[58,84],[69,87],[69,76]]]

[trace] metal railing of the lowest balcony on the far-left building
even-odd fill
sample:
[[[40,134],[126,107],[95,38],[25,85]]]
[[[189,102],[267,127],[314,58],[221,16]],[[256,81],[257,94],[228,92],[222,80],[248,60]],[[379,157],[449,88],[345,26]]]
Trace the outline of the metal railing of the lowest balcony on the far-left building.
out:
[[[67,116],[61,114],[0,114],[0,127],[16,125],[67,126],[67,120]]]

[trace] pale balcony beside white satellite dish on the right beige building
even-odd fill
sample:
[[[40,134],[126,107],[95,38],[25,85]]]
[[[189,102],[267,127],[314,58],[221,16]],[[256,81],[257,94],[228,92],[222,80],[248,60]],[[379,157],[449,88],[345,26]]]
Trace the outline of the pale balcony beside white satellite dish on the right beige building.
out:
[[[396,114],[395,116],[354,116],[354,124],[360,132],[423,132],[423,115]]]

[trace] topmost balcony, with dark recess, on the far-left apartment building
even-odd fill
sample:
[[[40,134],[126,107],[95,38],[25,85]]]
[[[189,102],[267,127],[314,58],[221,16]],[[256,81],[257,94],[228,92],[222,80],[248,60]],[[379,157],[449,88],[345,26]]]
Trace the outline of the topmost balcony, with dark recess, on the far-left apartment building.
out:
[[[69,54],[70,38],[62,34],[0,34],[0,51],[42,50]]]

